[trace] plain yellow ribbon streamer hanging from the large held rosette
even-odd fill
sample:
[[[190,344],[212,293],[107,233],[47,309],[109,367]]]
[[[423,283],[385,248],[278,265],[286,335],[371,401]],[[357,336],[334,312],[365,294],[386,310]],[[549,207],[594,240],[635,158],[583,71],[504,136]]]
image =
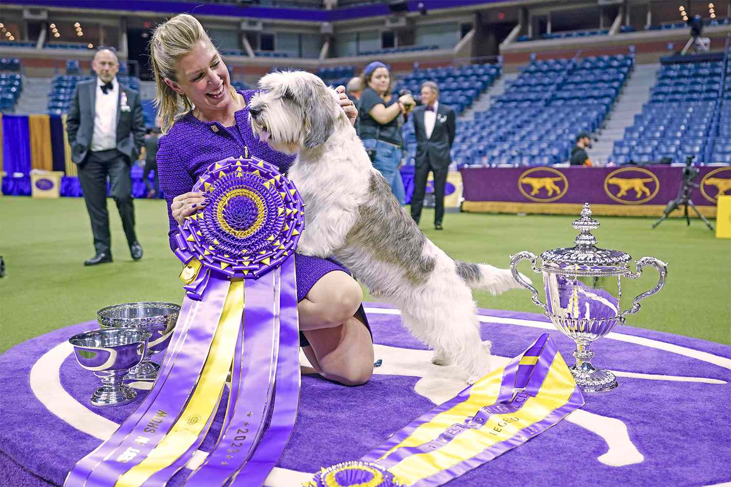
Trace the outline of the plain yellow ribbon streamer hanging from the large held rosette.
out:
[[[115,487],[142,485],[155,472],[172,465],[200,436],[208,419],[216,413],[221,399],[236,347],[241,310],[243,280],[232,280],[211,351],[183,413],[147,458],[121,475]]]

